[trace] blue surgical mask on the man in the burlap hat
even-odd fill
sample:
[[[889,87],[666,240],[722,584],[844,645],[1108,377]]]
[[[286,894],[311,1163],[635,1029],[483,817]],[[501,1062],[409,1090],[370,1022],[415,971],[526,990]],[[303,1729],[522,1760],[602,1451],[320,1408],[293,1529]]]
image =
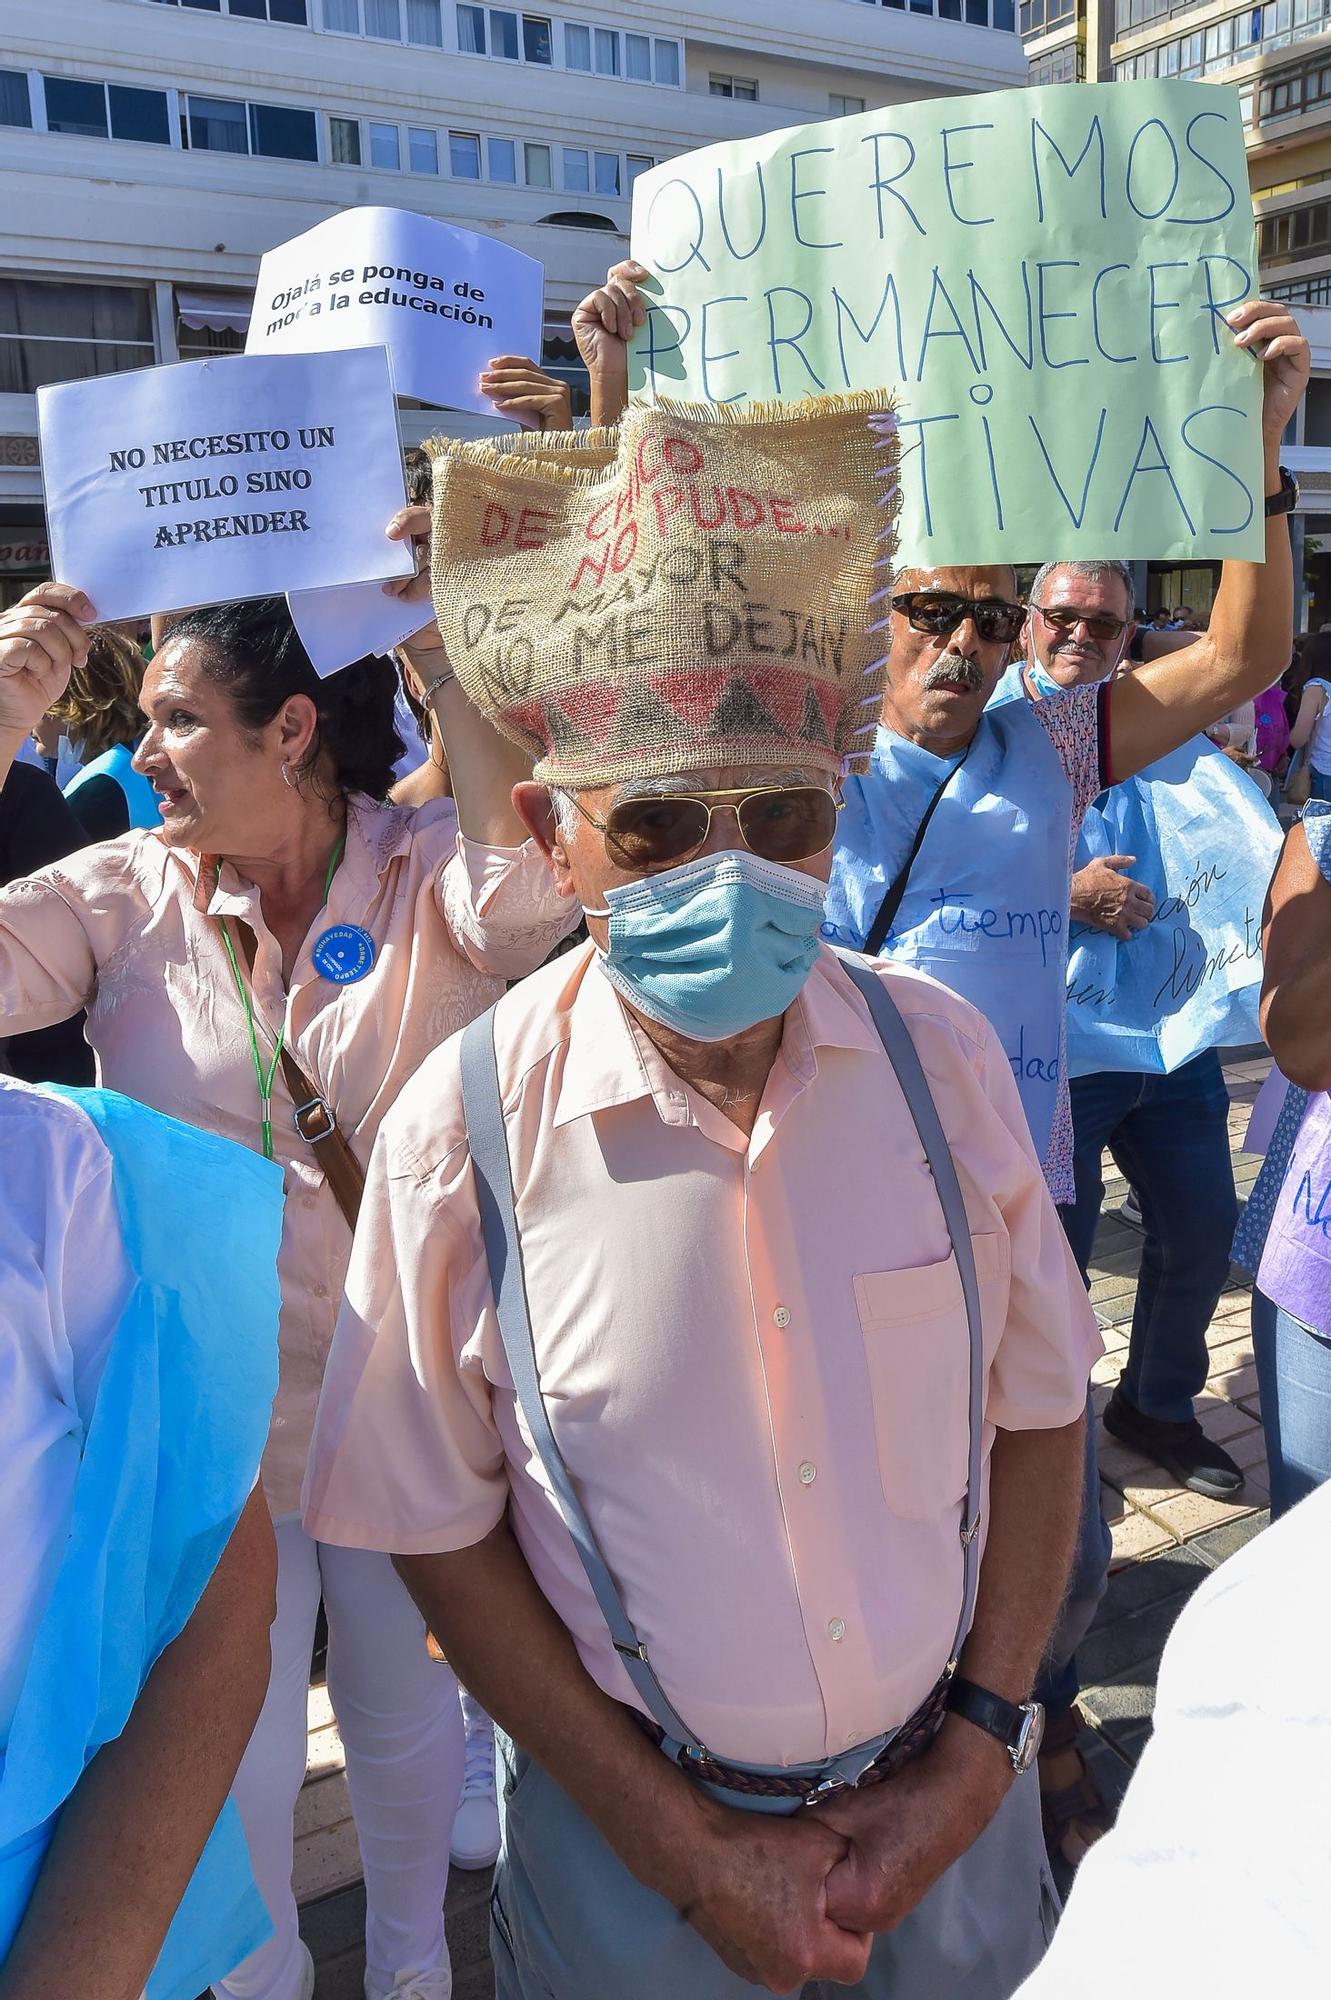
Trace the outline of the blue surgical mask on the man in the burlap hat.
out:
[[[731,848],[606,890],[602,964],[650,1020],[723,1042],[783,1014],[817,958],[827,888]]]

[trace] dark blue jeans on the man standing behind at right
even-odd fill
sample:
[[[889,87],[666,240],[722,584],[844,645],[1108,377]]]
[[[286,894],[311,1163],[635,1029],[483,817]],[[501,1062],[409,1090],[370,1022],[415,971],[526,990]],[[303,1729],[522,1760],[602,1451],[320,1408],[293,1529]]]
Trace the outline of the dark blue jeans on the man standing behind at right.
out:
[[[1105,1146],[1141,1200],[1145,1242],[1119,1388],[1145,1416],[1183,1424],[1207,1380],[1207,1326],[1239,1220],[1219,1056],[1207,1050],[1173,1076],[1073,1076],[1071,1106],[1077,1200],[1059,1214],[1083,1278],[1105,1198]]]

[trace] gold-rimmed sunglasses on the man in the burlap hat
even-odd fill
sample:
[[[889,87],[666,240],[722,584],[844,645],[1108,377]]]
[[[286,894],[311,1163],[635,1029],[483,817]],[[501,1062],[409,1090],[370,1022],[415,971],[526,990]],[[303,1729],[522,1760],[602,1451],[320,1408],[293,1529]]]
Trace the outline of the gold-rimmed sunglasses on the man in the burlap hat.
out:
[[[640,792],[618,798],[604,820],[570,792],[606,852],[624,868],[687,860],[711,832],[713,812],[733,812],[749,854],[767,862],[807,862],[829,848],[843,800],[819,784],[739,786],[715,792]]]

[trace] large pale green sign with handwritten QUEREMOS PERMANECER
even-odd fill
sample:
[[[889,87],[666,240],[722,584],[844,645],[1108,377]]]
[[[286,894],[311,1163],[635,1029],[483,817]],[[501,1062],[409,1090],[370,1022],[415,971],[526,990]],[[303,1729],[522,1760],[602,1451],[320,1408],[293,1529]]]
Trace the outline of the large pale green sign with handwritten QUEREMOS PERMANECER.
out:
[[[707,146],[634,188],[638,400],[887,386],[901,550],[1261,560],[1261,372],[1235,90],[895,104]]]

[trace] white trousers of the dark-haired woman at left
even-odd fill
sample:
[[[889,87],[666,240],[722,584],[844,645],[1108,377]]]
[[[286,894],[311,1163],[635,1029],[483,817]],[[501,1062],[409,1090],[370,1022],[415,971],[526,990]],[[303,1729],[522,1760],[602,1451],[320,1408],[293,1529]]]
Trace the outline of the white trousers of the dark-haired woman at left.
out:
[[[450,1668],[388,1556],[314,1542],[278,1522],[272,1680],[232,1796],[274,1936],[214,1994],[296,2000],[302,1954],[292,1894],[292,1818],[306,1776],[314,1624],[328,1616],[328,1696],[366,1876],[366,1964],[382,1988],[446,1962],[448,1844],[462,1790],[462,1706]]]

